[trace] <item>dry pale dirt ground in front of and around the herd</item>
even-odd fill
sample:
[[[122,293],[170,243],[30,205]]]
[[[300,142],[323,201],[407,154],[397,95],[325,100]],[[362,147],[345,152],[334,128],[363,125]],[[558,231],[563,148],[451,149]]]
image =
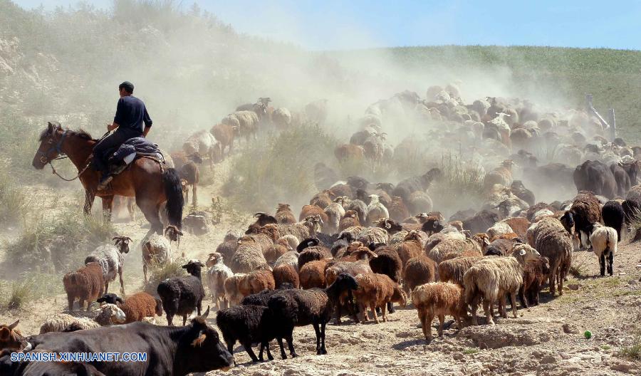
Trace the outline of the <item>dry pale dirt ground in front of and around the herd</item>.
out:
[[[218,188],[215,184],[199,188],[199,205],[208,206]],[[249,221],[249,214],[226,211],[209,234],[184,236],[179,253],[204,261],[226,231]],[[117,219],[115,226],[134,239],[125,257],[125,289],[134,293],[142,288],[138,243],[147,231],[145,221],[139,215],[132,223]],[[563,296],[551,298],[545,288],[541,305],[518,310],[518,318],[499,318],[494,326],[459,330],[454,323],[428,345],[410,304],[390,314],[387,323],[354,324],[347,319],[340,326],[328,325],[328,355],[315,355],[311,326],[296,328],[294,345],[300,357],[281,360],[274,341],[271,350],[276,360],[252,364],[236,344],[238,365],[207,375],[641,375],[640,362],[620,355],[641,329],[641,244],[620,244],[613,277],[596,277],[598,261],[589,251],[575,252],[573,265],[579,266],[582,275],[570,276]],[[118,292],[117,284],[111,286],[110,291]],[[204,302],[205,307],[209,304]],[[20,318],[23,333],[36,334],[46,318],[64,310],[66,296],[58,294],[19,312],[0,312],[0,323]],[[214,317],[209,315],[209,323],[215,327]],[[165,325],[166,320],[157,318],[157,323]],[[590,330],[592,338],[585,338],[585,330]]]

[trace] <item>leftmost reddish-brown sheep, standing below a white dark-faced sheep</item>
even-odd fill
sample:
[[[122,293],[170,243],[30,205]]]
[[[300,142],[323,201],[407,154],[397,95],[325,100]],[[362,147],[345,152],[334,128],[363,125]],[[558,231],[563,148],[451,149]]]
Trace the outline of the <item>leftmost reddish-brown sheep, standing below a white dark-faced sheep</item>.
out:
[[[73,310],[75,298],[79,299],[80,310],[85,308],[85,301],[87,302],[87,310],[89,310],[91,302],[104,293],[103,268],[98,263],[87,263],[77,271],[66,273],[63,277],[63,284],[67,293],[69,310]]]

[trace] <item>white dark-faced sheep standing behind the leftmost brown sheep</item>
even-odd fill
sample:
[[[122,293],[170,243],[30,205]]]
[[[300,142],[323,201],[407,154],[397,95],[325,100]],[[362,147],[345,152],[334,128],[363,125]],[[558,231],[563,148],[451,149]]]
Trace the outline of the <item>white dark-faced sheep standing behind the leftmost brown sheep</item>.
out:
[[[105,293],[109,290],[109,283],[115,281],[118,274],[120,279],[120,293],[125,293],[123,283],[123,266],[125,264],[124,254],[129,253],[129,243],[131,238],[128,236],[114,236],[114,245],[105,244],[94,249],[87,258],[85,263],[95,262],[103,269],[103,279],[105,281]]]

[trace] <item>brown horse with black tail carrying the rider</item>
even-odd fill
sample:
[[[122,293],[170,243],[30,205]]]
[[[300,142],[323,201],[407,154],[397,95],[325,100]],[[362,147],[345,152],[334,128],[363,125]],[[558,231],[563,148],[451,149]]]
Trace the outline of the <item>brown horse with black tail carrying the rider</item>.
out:
[[[40,135],[40,147],[33,157],[33,167],[43,169],[59,155],[66,155],[78,169],[78,178],[85,187],[85,214],[90,214],[95,196],[103,199],[103,210],[111,213],[113,195],[135,197],[136,204],[151,224],[149,233],[162,235],[159,210],[167,202],[167,221],[170,225],[182,226],[182,187],[175,169],[161,166],[150,158],[138,158],[111,181],[111,187],[97,191],[100,174],[88,164],[93,146],[98,142],[82,130],[63,129],[59,124],[48,123]]]

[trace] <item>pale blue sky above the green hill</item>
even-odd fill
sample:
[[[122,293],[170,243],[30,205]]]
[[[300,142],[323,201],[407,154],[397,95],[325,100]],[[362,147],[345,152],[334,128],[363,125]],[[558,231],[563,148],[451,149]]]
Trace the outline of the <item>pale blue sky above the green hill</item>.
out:
[[[16,1],[27,9],[77,2]],[[105,9],[111,4],[87,2]],[[183,0],[182,6],[189,9],[193,2]],[[313,50],[442,44],[641,49],[641,1],[636,0],[196,2],[236,31]]]

